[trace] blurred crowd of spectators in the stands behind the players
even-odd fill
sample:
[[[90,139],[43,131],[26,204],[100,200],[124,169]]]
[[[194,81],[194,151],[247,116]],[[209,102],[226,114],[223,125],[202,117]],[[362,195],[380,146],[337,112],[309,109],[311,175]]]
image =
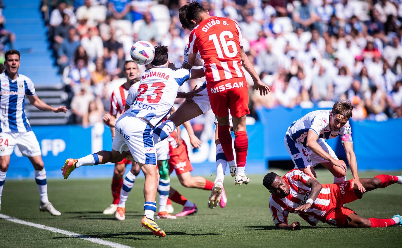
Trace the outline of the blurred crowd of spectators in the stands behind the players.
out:
[[[180,67],[189,31],[181,27],[178,8],[186,2],[43,0],[75,123],[101,121],[88,116],[110,108],[135,41],[168,46],[170,62]],[[252,117],[258,118],[258,108],[324,108],[338,99],[351,100],[354,120],[402,117],[402,1],[199,2],[211,16],[238,22],[244,51],[271,88],[268,97],[260,96],[250,84]],[[190,81],[182,90],[202,82]]]

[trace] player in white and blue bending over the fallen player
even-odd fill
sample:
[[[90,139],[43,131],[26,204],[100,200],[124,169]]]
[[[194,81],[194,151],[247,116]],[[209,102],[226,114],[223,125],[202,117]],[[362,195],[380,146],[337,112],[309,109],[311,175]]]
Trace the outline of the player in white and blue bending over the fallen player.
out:
[[[352,130],[349,119],[352,117],[351,102],[339,100],[332,110],[316,110],[293,122],[285,135],[285,147],[295,164],[295,169],[316,177],[314,166],[321,164],[334,175],[334,183],[346,181],[345,161],[338,160],[326,139],[341,136],[343,148],[353,175],[352,187],[357,184],[365,191],[357,173],[356,155],[353,151]]]

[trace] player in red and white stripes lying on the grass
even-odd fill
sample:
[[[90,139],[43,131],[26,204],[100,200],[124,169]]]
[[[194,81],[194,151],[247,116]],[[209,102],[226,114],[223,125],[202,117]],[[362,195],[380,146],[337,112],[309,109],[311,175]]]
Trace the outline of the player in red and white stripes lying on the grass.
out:
[[[402,176],[377,175],[374,178],[361,178],[366,192],[388,185],[402,184]],[[287,215],[296,213],[315,226],[325,222],[340,228],[387,227],[402,224],[402,216],[394,215],[390,219],[363,218],[345,203],[355,201],[363,196],[363,192],[352,180],[342,183],[320,184],[303,171],[293,169],[283,177],[271,172],[265,175],[263,185],[272,193],[269,199],[274,224],[279,229],[300,229],[299,222],[287,224]]]

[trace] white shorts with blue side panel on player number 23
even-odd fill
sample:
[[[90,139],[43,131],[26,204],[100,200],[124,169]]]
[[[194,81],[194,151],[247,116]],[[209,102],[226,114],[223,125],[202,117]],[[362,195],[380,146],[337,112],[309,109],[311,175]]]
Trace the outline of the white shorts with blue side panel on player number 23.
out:
[[[157,154],[148,122],[134,116],[119,118],[115,124],[112,149],[120,153],[130,150],[138,163],[156,165]]]

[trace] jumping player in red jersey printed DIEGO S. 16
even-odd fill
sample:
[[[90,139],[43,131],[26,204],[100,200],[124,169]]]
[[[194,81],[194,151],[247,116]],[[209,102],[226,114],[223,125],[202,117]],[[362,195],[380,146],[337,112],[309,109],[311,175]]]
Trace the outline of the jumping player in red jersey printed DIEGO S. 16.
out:
[[[243,37],[236,22],[228,18],[210,16],[197,2],[188,4],[187,21],[195,24],[189,37],[189,65],[197,63],[197,52],[204,60],[205,78],[211,108],[218,120],[218,138],[230,167],[236,164],[235,184],[249,182],[244,173],[248,138],[246,114],[248,87],[242,66],[250,73],[254,88],[267,94],[269,87],[261,82],[251,62],[243,51]],[[234,160],[232,136],[229,126],[229,110],[235,135]]]

